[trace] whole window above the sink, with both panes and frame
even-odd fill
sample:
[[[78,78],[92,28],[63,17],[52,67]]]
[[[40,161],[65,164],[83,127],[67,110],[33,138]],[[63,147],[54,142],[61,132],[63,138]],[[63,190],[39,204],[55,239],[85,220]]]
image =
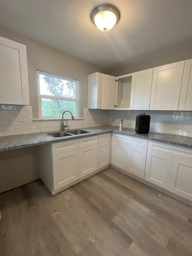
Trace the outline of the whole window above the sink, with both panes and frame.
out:
[[[46,72],[38,72],[40,118],[61,117],[64,110],[79,116],[79,81]],[[69,115],[67,113],[65,115]]]

